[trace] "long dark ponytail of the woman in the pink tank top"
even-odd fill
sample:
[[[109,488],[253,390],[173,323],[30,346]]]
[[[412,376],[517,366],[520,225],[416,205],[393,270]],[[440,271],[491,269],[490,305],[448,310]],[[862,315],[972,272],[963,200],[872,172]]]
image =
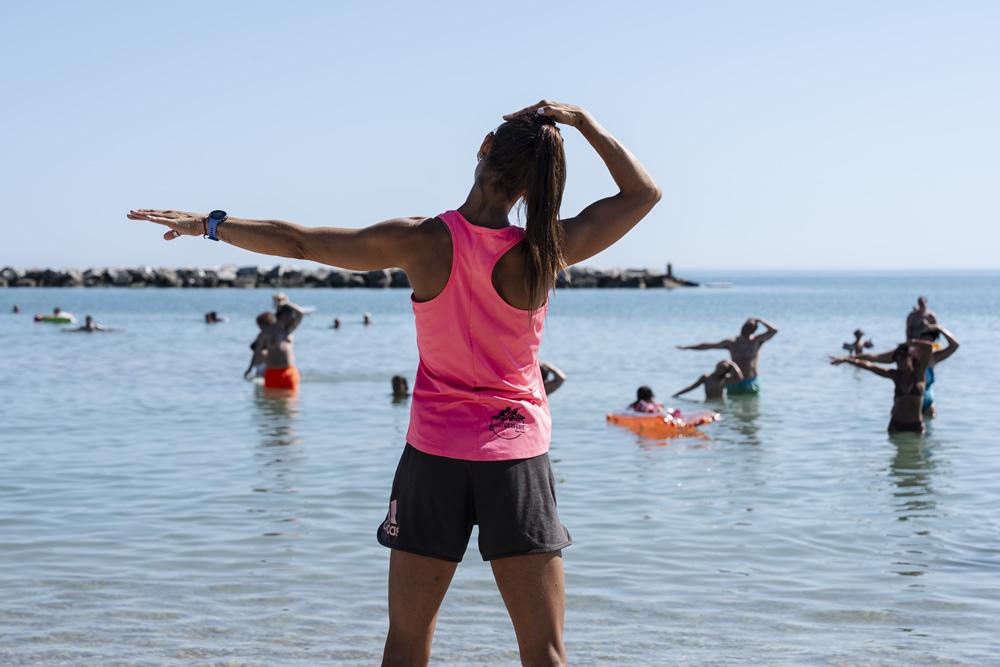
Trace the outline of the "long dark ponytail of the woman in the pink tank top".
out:
[[[555,287],[556,274],[566,266],[559,224],[566,187],[566,154],[555,123],[547,118],[536,122],[540,123],[537,149],[524,193],[528,260],[525,281],[531,303]]]

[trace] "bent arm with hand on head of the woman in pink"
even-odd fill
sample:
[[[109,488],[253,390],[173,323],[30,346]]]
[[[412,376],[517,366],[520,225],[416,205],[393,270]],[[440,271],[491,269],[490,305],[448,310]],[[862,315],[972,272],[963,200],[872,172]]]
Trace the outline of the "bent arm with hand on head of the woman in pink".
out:
[[[557,123],[572,125],[578,129],[597,151],[618,186],[618,194],[594,202],[576,217],[562,220],[565,232],[563,251],[567,264],[576,264],[593,257],[615,243],[660,201],[662,193],[653,177],[585,109],[542,100],[504,118],[523,113],[541,113]]]

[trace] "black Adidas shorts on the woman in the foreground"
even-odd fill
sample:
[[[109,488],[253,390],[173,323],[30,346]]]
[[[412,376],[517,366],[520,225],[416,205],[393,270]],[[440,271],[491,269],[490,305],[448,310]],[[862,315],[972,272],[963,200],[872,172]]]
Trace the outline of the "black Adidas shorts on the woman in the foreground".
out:
[[[559,551],[572,542],[556,512],[549,455],[462,461],[406,445],[378,541],[458,563],[479,524],[483,560]]]

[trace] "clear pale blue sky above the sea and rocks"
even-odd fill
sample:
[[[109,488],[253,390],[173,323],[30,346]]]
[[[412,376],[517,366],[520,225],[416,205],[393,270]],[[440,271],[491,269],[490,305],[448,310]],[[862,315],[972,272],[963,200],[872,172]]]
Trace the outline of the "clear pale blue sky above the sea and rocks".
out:
[[[995,268],[1000,3],[0,0],[0,265],[274,260],[131,207],[362,226],[583,105],[660,205],[594,266]],[[614,192],[567,133],[563,215]]]

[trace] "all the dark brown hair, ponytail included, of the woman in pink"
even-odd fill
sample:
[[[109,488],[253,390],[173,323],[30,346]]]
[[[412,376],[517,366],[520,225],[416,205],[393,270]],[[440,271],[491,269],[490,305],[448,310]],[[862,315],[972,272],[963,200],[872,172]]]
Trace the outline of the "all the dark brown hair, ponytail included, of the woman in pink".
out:
[[[519,116],[497,128],[486,155],[485,178],[508,197],[523,195],[526,210],[525,286],[534,303],[555,286],[566,266],[559,207],[566,187],[566,153],[555,121]]]

